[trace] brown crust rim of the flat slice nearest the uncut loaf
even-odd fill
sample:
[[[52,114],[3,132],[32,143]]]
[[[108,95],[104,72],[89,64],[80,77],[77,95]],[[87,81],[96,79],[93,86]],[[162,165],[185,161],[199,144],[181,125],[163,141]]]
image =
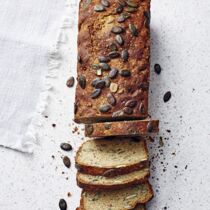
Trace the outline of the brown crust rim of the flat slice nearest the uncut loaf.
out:
[[[138,171],[140,169],[143,169],[149,165],[149,154],[148,154],[148,148],[146,141],[144,142],[144,150],[147,153],[147,158],[144,161],[141,161],[136,164],[132,165],[126,165],[126,166],[120,166],[120,167],[110,167],[110,168],[103,168],[103,167],[96,167],[96,166],[88,166],[84,165],[82,163],[78,162],[78,156],[79,153],[82,149],[82,145],[77,151],[76,157],[75,157],[75,167],[78,169],[79,172],[85,173],[85,174],[90,174],[90,175],[95,175],[95,176],[105,176],[105,177],[113,177],[113,176],[118,176],[118,175],[123,175],[123,174],[128,174],[133,171]]]

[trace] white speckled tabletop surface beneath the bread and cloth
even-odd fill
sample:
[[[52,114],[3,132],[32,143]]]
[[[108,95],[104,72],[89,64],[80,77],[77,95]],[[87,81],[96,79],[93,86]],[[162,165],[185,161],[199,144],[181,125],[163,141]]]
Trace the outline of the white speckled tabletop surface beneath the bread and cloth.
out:
[[[62,38],[63,65],[55,79],[49,118],[40,128],[35,154],[0,148],[1,210],[57,210],[62,197],[69,210],[79,203],[73,163],[83,133],[72,134],[74,91],[65,86],[67,78],[75,74],[76,11],[76,5],[71,5],[71,27],[67,29],[68,36]],[[210,210],[209,14],[208,0],[152,1],[152,66],[160,63],[163,71],[160,76],[151,73],[150,110],[153,118],[161,122],[159,136],[163,137],[164,146],[158,148],[159,137],[149,146],[155,191],[148,206],[151,210],[165,206],[171,210]],[[162,98],[168,90],[172,99],[164,104]],[[59,145],[63,141],[71,142],[74,152],[61,151]],[[64,154],[71,157],[70,170],[63,166]],[[69,198],[68,192],[72,193]]]

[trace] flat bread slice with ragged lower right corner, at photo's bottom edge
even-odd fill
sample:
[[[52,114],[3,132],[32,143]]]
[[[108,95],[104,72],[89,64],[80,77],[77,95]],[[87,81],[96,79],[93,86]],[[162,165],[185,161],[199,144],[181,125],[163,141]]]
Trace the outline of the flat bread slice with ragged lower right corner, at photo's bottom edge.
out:
[[[83,191],[81,206],[83,210],[129,210],[137,204],[145,204],[153,197],[151,185],[140,185],[113,191]]]

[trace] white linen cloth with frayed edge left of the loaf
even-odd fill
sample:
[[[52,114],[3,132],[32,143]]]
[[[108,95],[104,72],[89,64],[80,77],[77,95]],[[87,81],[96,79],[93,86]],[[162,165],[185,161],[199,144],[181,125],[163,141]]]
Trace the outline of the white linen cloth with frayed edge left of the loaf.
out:
[[[46,103],[43,86],[50,71],[48,60],[64,11],[65,0],[0,0],[2,146],[33,151],[37,112]]]

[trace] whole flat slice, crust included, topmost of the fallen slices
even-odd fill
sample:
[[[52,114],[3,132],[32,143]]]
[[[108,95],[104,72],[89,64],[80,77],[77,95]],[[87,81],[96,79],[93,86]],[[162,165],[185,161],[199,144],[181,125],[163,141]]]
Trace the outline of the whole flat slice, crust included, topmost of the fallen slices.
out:
[[[76,167],[82,173],[117,176],[148,166],[145,138],[108,138],[88,140],[76,154]]]

